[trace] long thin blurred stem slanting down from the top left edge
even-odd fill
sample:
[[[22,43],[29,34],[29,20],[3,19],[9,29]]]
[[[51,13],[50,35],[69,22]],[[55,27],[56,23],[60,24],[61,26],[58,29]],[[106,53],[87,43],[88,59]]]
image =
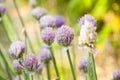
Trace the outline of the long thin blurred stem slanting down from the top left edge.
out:
[[[23,19],[22,19],[21,15],[20,15],[18,6],[17,6],[17,4],[16,4],[16,0],[13,0],[13,2],[14,2],[14,5],[15,5],[15,8],[16,8],[16,10],[17,10],[18,17],[19,17],[19,19],[20,19],[20,22],[21,22],[21,24],[22,24],[22,27],[25,28],[25,24],[24,24]],[[31,48],[32,52],[34,53],[35,51],[33,50],[32,43],[31,43],[31,41],[30,41],[30,38],[29,38],[26,30],[24,31],[24,35],[27,37],[28,42],[29,42],[29,45],[30,45],[30,48]]]

